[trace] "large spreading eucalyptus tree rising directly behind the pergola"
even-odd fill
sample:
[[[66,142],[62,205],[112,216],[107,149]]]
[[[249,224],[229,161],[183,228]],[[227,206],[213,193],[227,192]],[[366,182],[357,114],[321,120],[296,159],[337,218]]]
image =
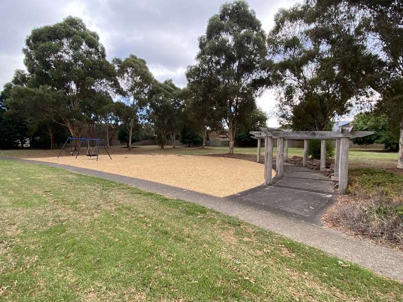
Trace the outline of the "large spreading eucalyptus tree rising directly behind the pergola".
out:
[[[267,39],[281,81],[279,117],[296,130],[325,130],[366,97],[374,57],[355,26],[359,10],[307,0],[280,10]]]

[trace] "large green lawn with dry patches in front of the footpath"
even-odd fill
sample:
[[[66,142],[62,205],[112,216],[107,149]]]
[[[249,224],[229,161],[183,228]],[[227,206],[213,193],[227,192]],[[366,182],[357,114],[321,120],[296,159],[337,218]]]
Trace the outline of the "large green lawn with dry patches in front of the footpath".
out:
[[[0,161],[0,300],[401,300],[403,284],[216,211]]]

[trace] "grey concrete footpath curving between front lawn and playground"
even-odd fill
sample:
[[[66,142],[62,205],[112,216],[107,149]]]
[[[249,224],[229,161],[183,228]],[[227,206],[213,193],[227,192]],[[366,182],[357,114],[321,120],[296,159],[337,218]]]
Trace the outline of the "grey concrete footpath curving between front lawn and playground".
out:
[[[258,202],[249,202],[250,200],[245,200],[242,198],[243,196],[250,196],[249,193],[253,193],[253,191],[248,192],[246,195],[240,194],[240,196],[238,197],[230,196],[229,198],[220,198],[182,188],[164,185],[161,183],[100,172],[91,169],[59,165],[54,163],[37,162],[32,160],[12,158],[0,159],[16,160],[25,163],[62,168],[76,173],[126,183],[153,193],[194,202],[215,209],[217,211],[238,217],[244,221],[260,226],[263,229],[284,235],[300,243],[318,248],[331,255],[357,263],[382,275],[403,282],[403,253],[377,246],[365,241],[361,241],[359,239],[349,237],[334,230],[322,228],[319,225],[315,225],[313,223],[303,221],[302,219],[298,219],[298,217],[295,218],[283,215],[280,212],[271,210],[271,207],[267,207],[265,206],[265,204],[259,204]],[[310,179],[310,177],[305,178]],[[292,179],[290,179],[290,181],[292,181]],[[300,184],[301,180],[298,180],[297,183]],[[288,184],[290,184],[290,182]],[[281,185],[279,185],[279,188],[280,186]],[[264,189],[267,189],[267,187],[260,187],[257,189],[257,191],[261,191]],[[291,188],[291,190],[293,189],[294,188]],[[320,190],[318,191],[318,194],[326,193],[320,192]],[[261,192],[259,194],[261,194]]]

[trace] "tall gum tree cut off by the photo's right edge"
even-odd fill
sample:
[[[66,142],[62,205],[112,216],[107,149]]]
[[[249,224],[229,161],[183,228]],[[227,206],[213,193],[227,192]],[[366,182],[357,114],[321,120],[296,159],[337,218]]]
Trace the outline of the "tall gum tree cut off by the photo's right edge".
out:
[[[381,98],[377,111],[385,113],[390,126],[400,131],[397,168],[403,169],[403,6],[401,0],[316,0],[317,11],[329,8],[349,8],[358,12],[356,30],[365,31],[368,51],[381,61],[372,72],[372,88]],[[352,62],[353,65],[355,62]]]

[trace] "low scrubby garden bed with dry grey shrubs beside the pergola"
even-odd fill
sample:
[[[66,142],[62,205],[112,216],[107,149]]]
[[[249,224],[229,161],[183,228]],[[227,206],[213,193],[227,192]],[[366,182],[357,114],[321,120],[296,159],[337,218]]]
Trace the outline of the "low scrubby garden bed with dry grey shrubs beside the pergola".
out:
[[[403,249],[403,175],[357,168],[349,177],[350,195],[340,197],[324,220]]]

